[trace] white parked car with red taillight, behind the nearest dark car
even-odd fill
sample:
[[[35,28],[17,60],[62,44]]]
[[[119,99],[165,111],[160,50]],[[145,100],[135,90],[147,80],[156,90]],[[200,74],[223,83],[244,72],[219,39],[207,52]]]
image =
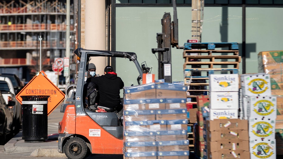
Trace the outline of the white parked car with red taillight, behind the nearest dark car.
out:
[[[0,91],[4,98],[5,104],[8,105],[9,101],[14,101],[13,106],[13,133],[19,132],[22,123],[22,105],[16,100],[15,90],[12,82],[8,77],[0,77]]]

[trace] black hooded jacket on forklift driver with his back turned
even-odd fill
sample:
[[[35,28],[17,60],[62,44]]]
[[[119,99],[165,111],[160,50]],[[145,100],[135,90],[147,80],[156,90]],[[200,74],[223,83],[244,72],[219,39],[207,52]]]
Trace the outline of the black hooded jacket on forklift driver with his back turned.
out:
[[[124,82],[114,72],[87,79],[95,84],[99,93],[99,105],[116,107],[120,104],[120,89],[123,89]]]

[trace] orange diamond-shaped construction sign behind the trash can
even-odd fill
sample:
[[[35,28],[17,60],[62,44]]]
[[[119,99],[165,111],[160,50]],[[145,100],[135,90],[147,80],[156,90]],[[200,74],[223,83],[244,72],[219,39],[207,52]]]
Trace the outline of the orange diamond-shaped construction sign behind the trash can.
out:
[[[29,83],[16,95],[16,99],[22,104],[22,95],[49,95],[47,115],[49,115],[63,100],[65,94],[46,77],[43,72],[38,72]]]

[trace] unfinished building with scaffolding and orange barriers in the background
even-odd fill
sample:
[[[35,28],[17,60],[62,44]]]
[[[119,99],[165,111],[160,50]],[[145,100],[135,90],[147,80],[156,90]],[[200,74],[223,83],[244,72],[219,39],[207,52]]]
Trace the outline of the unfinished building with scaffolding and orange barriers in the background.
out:
[[[77,6],[77,5],[76,5]],[[74,3],[70,7],[70,49],[75,48]],[[51,70],[66,52],[66,0],[0,1],[0,71],[30,80]],[[40,39],[41,38],[41,39]]]

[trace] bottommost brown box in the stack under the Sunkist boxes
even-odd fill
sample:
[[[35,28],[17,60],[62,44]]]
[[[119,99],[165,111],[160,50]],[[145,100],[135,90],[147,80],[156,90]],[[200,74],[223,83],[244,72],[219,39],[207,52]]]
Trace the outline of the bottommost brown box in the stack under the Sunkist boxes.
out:
[[[221,150],[218,152],[205,152],[206,159],[250,159],[250,152],[244,150]]]

